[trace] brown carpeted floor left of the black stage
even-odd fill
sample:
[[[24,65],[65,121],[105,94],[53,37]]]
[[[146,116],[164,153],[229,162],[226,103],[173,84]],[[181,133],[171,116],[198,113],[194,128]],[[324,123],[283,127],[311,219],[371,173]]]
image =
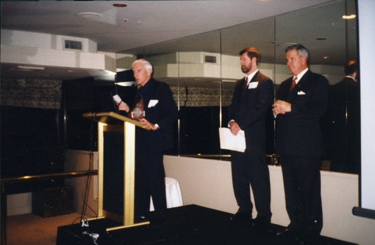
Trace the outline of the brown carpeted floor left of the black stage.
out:
[[[87,217],[86,217],[87,218]],[[7,245],[55,245],[57,227],[79,223],[80,214],[66,214],[41,218],[34,214],[8,216],[6,220]]]

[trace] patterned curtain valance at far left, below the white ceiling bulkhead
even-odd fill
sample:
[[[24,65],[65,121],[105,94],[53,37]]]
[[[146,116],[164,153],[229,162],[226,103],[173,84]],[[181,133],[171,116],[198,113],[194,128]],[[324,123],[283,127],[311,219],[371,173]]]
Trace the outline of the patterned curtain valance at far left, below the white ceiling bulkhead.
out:
[[[2,78],[1,106],[60,109],[62,80]]]

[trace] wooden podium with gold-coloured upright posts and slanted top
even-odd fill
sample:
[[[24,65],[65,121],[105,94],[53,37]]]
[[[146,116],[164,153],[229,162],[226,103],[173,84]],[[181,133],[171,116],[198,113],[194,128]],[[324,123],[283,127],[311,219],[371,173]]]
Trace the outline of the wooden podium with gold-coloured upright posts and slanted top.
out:
[[[98,176],[98,214],[97,218],[110,218],[123,225],[107,228],[107,231],[149,224],[148,221],[134,223],[135,188],[135,127],[143,127],[137,120],[114,112],[84,113],[83,117],[97,122],[97,176]],[[146,128],[146,130],[150,130]],[[104,210],[104,132],[123,132],[123,214]],[[118,154],[122,154],[121,152]],[[96,218],[95,218],[96,219]]]

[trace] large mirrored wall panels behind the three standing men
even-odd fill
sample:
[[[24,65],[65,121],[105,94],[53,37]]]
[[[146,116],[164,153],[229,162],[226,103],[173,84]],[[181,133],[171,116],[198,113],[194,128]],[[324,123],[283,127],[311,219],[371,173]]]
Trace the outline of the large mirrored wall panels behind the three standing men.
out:
[[[343,15],[356,13],[354,0],[334,1],[275,18],[126,50],[118,54],[118,68],[130,69],[135,57],[144,58],[153,64],[154,78],[170,85],[179,120],[175,123],[175,148],[168,154],[229,160],[230,152],[219,147],[218,129],[227,127],[226,113],[236,80],[245,76],[240,69],[238,52],[248,46],[261,52],[259,69],[274,81],[277,92],[278,85],[291,76],[285,64],[285,48],[301,43],[310,51],[310,69],[326,76],[333,88],[345,76],[346,61],[358,59],[357,20],[343,18]],[[325,170],[356,173],[359,169],[359,94],[355,94],[358,104],[353,106],[357,102],[348,97],[350,89],[345,87],[342,94],[344,114],[340,117],[343,121],[332,119],[338,112],[332,108],[322,118],[327,149],[322,161]],[[274,120],[271,109],[266,129],[266,157],[272,164]],[[335,161],[340,166],[332,167]]]

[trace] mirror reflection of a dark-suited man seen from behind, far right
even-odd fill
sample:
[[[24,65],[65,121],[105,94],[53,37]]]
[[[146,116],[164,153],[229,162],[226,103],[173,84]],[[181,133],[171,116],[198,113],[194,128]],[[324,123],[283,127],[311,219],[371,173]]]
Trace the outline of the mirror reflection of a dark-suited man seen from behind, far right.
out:
[[[358,174],[360,170],[360,86],[355,60],[344,66],[345,77],[329,90],[332,171]]]

